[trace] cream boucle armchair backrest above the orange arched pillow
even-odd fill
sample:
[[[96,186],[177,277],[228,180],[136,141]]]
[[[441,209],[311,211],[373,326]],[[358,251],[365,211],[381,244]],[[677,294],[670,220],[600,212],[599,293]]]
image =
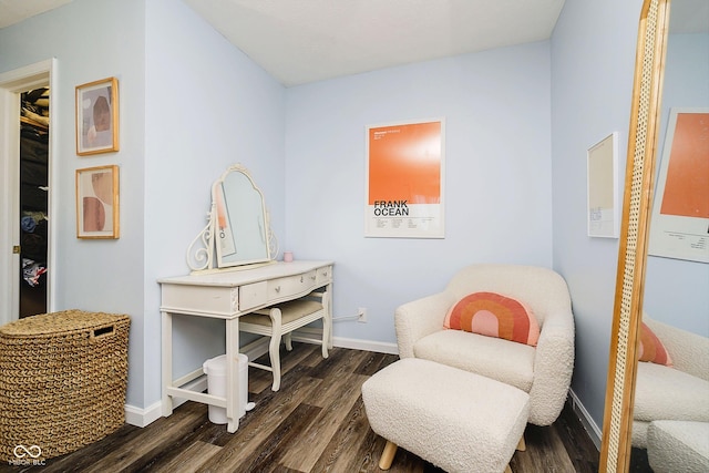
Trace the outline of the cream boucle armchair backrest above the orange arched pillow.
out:
[[[459,270],[445,291],[456,299],[477,291],[499,292],[524,302],[540,323],[548,313],[571,313],[566,281],[552,269],[521,265],[471,265]]]

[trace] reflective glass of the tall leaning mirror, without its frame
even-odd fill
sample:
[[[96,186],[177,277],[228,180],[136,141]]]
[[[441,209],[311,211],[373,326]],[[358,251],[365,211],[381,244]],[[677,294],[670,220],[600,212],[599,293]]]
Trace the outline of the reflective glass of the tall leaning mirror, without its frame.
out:
[[[638,363],[630,469],[682,457],[669,431],[709,443],[709,2],[671,0],[643,320],[671,369]],[[689,433],[701,422],[702,431]],[[653,426],[653,429],[650,429]],[[668,431],[668,432],[666,432]],[[707,454],[707,453],[705,453]],[[684,471],[691,471],[685,462]],[[709,471],[709,459],[705,467]],[[677,470],[674,467],[672,470]]]

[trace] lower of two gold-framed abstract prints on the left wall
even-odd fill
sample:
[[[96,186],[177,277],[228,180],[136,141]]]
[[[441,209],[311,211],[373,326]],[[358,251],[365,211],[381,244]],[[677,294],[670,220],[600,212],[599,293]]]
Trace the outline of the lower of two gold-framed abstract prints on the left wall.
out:
[[[119,166],[76,169],[76,238],[119,236]]]

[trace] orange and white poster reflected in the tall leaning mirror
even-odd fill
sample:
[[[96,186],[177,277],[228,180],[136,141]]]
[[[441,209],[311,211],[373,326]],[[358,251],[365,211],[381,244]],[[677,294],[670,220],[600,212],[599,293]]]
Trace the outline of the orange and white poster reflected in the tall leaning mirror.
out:
[[[649,254],[709,263],[709,110],[671,109]]]

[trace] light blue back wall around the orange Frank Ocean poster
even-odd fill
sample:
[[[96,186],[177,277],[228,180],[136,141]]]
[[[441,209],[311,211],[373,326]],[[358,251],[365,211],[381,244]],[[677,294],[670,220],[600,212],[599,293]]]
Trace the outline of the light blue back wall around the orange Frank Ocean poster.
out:
[[[290,88],[286,238],[335,266],[335,336],[395,343],[397,306],[482,261],[551,267],[549,44]],[[364,238],[367,125],[445,119],[445,238]]]

